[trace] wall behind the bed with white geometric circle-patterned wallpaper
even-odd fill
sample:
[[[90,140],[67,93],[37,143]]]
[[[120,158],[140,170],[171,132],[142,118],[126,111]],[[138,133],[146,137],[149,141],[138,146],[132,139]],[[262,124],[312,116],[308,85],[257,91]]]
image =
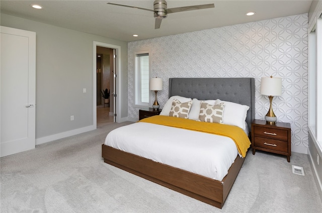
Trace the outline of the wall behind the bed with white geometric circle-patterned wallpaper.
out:
[[[254,77],[256,119],[264,119],[269,99],[260,94],[261,77],[282,78],[282,95],[274,97],[278,121],[291,123],[292,151],[308,147],[307,14],[196,31],[128,43],[128,115],[134,108],[134,51],[151,48],[151,77],[161,77],[157,93],[162,108],[170,77]],[[150,104],[154,100],[151,92]]]

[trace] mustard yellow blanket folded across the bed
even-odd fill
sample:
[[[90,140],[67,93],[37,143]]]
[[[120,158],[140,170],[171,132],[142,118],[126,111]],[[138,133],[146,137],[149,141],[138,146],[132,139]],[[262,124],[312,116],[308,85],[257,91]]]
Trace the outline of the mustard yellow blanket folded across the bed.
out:
[[[231,125],[198,122],[194,120],[168,116],[152,116],[146,119],[142,119],[139,122],[177,127],[186,130],[193,130],[229,137],[235,142],[238,152],[243,157],[246,156],[246,152],[251,145],[250,139],[248,138],[246,133],[239,127]]]

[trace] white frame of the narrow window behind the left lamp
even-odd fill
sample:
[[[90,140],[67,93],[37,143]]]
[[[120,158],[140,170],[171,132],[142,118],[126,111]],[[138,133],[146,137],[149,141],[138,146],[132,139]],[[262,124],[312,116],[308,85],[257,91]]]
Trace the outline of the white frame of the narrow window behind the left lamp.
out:
[[[134,50],[134,107],[136,108],[146,108],[149,106],[148,102],[142,102],[141,101],[141,75],[140,75],[140,68],[139,68],[139,62],[137,55],[140,54],[148,54],[149,56],[149,73],[151,69],[151,50],[150,48],[140,48]],[[150,94],[148,97],[148,100],[150,100]]]

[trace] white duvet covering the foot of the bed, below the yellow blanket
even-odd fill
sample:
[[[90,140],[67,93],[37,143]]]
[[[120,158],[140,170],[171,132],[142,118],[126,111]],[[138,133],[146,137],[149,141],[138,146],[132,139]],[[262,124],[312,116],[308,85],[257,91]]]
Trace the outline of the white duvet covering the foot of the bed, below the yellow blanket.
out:
[[[228,137],[144,122],[111,131],[105,145],[219,181],[238,154]]]

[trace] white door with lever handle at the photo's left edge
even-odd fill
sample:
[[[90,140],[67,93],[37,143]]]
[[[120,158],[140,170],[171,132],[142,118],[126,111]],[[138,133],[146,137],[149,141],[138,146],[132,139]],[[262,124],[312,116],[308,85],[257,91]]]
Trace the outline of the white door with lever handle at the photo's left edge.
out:
[[[35,148],[36,33],[1,26],[0,156]]]

